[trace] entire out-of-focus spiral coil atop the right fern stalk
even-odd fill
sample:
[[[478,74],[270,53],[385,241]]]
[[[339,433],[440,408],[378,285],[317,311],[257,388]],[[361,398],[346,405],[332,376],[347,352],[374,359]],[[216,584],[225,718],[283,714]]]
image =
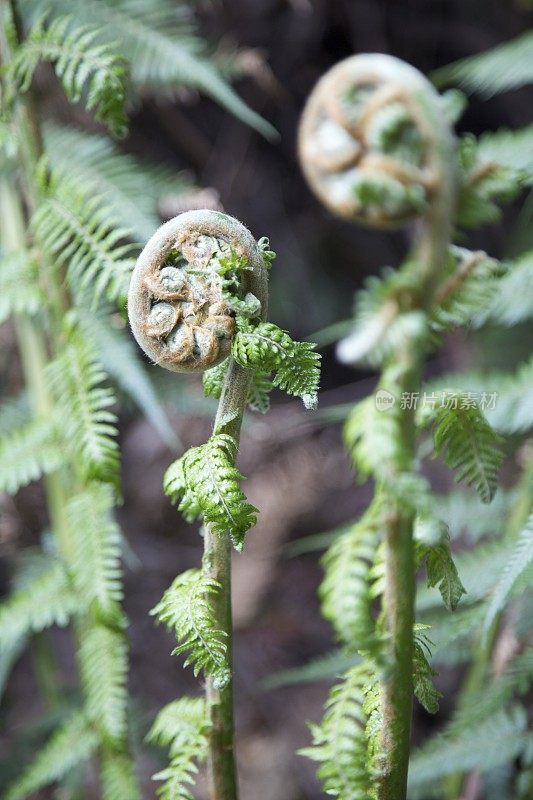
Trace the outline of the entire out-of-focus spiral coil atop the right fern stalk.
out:
[[[395,227],[426,213],[445,175],[448,128],[438,95],[408,64],[381,54],[341,61],[302,116],[300,162],[335,214]]]

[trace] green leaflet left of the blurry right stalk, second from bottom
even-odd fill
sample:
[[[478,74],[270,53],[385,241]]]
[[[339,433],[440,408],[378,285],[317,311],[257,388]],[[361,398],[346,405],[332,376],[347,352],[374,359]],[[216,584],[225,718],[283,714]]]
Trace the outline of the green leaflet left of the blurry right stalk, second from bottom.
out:
[[[378,644],[370,568],[380,542],[379,528],[379,518],[370,509],[333,542],[322,561],[322,613],[350,650],[375,650]]]

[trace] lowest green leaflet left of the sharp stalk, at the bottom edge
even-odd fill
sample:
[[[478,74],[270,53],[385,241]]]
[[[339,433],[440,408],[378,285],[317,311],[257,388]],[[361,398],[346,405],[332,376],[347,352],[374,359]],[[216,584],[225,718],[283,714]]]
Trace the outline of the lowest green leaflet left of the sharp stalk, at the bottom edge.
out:
[[[193,800],[188,787],[207,757],[208,732],[203,698],[181,697],[159,712],[146,738],[170,751],[169,766],[153,776],[164,781],[157,791],[161,800]]]

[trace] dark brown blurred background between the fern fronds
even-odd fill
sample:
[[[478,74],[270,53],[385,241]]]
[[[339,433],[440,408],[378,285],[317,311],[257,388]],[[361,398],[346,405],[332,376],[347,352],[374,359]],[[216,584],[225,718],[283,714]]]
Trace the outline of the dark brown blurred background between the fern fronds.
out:
[[[365,276],[398,264],[409,238],[409,231],[380,234],[334,219],[311,195],[296,159],[296,134],[303,104],[318,77],[345,56],[370,51],[393,54],[431,74],[519,35],[530,27],[533,12],[525,0],[214,0],[199,3],[197,13],[203,36],[216,49],[220,63],[228,65],[239,94],[276,127],[279,141],[266,141],[210,99],[184,90],[177,98],[151,96],[140,101],[132,109],[131,133],[121,147],[171,167],[191,187],[207,190],[204,197],[209,202],[220,202],[256,237],[268,235],[278,254],[272,270],[270,318],[290,328],[296,338],[311,336],[349,317],[353,293]],[[39,73],[38,91],[39,103],[49,116],[76,122],[73,114],[78,112],[66,103],[47,69]],[[517,128],[530,122],[532,107],[531,87],[490,100],[474,95],[459,129],[478,134],[500,126]],[[79,121],[87,125],[84,112],[79,114]],[[165,197],[162,218],[197,201],[192,188],[185,195]],[[497,257],[512,254],[517,239],[527,235],[522,223],[517,207],[511,205],[501,223],[476,231],[465,243]],[[514,330],[512,342],[488,334],[482,342],[450,336],[429,369],[438,374],[463,365],[504,363],[511,346],[513,357],[518,357],[521,336],[521,329]],[[9,326],[1,330],[1,348],[4,364],[15,357]],[[354,518],[368,500],[368,489],[353,484],[340,426],[332,422],[335,415],[328,415],[327,409],[364,396],[374,380],[370,372],[340,366],[332,346],[325,346],[322,353],[323,391],[317,414],[274,397],[268,417],[248,415],[244,430],[240,464],[249,476],[247,495],[261,515],[244,554],[234,560],[235,691],[243,800],[321,796],[313,764],[295,751],[308,743],[306,720],[321,716],[329,684],[312,680],[312,671],[294,677],[287,670],[335,647],[318,607],[320,552],[307,537]],[[179,451],[204,441],[213,406],[203,399],[200,382],[151,369],[180,439]],[[11,379],[18,379],[13,372]],[[125,609],[131,620],[131,692],[140,737],[164,703],[182,692],[197,691],[192,674],[170,658],[172,636],[156,628],[148,612],[178,572],[197,564],[201,543],[162,493],[163,471],[175,453],[127,406],[120,431],[124,479],[120,521],[128,543]],[[435,470],[435,485],[439,488],[441,481],[446,488],[449,478]],[[38,540],[44,504],[35,484],[2,504],[0,554],[7,583],[13,552]],[[73,675],[68,633],[55,630],[53,641],[68,684]],[[416,708],[415,742],[423,741],[446,718],[460,677],[459,669],[441,672],[437,683],[445,697],[436,719]],[[35,737],[42,736],[41,729],[31,728],[39,711],[36,698],[28,652],[7,690],[2,756],[8,755],[5,748],[13,761],[26,757],[24,748],[32,752],[27,738],[15,744],[28,727]],[[145,798],[154,796],[150,774],[160,758],[156,753],[146,756]]]

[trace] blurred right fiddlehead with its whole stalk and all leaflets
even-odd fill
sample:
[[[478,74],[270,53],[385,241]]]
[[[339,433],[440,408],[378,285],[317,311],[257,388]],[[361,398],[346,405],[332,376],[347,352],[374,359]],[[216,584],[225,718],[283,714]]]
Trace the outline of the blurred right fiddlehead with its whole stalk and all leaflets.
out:
[[[502,274],[485,254],[451,246],[458,206],[453,99],[439,97],[397,59],[354,56],[319,81],[300,128],[302,168],[334,213],[379,228],[419,220],[405,263],[369,280],[357,297],[353,331],[337,348],[345,363],[381,369],[375,394],[354,407],[345,426],[357,473],[374,480],[374,499],[336,538],[321,589],[325,616],[343,645],[362,657],[358,674],[366,678],[347,673],[305,751],[322,762],[325,789],[343,800],[406,797],[412,695],[430,712],[439,698],[428,626],[415,623],[416,572],[425,566],[428,586],[439,590],[448,611],[465,592],[446,525],[419,473],[416,440],[430,431],[435,455],[486,503],[502,460],[501,440],[475,398],[444,383],[422,391],[423,361],[439,334],[469,322]],[[487,205],[496,190],[485,189]],[[471,208],[483,201],[471,190]],[[418,403],[422,396],[427,402]],[[345,694],[348,716],[332,725]],[[345,751],[352,761],[340,774]]]

